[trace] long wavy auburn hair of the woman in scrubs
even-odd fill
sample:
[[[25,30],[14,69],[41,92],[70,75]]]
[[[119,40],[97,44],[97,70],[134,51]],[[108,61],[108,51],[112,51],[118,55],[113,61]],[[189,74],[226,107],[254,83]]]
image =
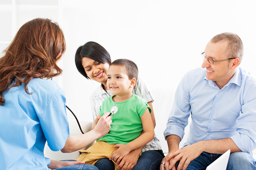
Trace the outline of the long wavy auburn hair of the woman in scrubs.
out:
[[[24,83],[26,93],[31,94],[26,87],[33,78],[61,75],[56,62],[65,50],[64,34],[58,23],[36,18],[21,26],[0,58],[0,105],[5,103],[3,93],[12,87]]]

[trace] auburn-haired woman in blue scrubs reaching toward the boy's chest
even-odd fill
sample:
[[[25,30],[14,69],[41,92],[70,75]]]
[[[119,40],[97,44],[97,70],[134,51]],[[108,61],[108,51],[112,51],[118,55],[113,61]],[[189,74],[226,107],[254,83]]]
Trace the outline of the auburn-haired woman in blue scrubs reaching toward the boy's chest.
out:
[[[58,24],[37,18],[19,29],[0,58],[1,170],[97,170],[44,157],[46,141],[53,151],[73,152],[110,130],[111,116],[105,113],[94,130],[70,136],[64,91],[49,80],[61,74],[56,63],[65,50]]]

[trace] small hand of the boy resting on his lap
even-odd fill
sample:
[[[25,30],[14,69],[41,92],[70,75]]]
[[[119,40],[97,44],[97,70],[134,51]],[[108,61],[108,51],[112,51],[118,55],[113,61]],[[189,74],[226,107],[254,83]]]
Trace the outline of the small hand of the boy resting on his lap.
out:
[[[116,164],[120,164],[122,158],[126,156],[128,153],[130,153],[131,149],[124,144],[116,144],[114,145],[114,147],[119,147],[119,148],[111,154],[110,160],[115,161]]]

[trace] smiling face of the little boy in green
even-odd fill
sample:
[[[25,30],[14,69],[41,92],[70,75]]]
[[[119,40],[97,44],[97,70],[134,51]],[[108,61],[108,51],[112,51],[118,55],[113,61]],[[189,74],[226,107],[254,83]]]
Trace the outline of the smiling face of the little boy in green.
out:
[[[107,86],[112,95],[131,97],[133,90],[133,79],[129,79],[125,66],[111,65],[108,69]]]

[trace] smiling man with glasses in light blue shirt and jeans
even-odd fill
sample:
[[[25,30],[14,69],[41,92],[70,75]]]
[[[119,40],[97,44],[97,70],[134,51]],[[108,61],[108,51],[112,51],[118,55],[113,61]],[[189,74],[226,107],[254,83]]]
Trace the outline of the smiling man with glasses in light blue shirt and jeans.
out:
[[[169,153],[160,170],[205,170],[229,149],[227,170],[255,170],[256,79],[238,67],[243,43],[221,33],[202,55],[203,69],[188,72],[177,87],[164,132]],[[189,135],[179,149],[190,114]]]

